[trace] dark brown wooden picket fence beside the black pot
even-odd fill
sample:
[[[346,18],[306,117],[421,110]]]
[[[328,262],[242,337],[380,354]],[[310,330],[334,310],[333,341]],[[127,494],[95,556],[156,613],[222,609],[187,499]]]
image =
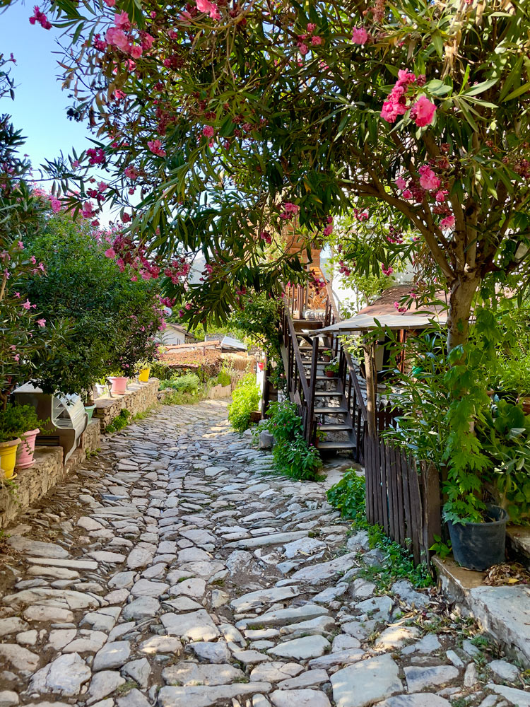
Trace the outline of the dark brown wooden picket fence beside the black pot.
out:
[[[427,562],[441,535],[440,481],[432,464],[416,461],[379,437],[365,436],[366,515],[372,525]]]

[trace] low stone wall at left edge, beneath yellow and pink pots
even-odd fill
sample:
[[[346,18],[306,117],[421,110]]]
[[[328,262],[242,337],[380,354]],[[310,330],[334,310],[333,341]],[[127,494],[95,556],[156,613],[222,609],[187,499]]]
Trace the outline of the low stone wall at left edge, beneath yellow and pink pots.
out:
[[[86,458],[88,450],[100,446],[100,421],[90,421],[80,438],[75,452],[63,464],[62,447],[35,448],[35,464],[30,469],[19,469],[13,484],[0,486],[0,527],[6,527],[23,510],[46,496],[50,489],[66,479]]]

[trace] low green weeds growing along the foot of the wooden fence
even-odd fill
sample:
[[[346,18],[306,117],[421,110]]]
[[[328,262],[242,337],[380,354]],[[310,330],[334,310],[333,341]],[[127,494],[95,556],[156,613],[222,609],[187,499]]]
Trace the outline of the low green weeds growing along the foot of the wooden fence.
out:
[[[400,579],[408,580],[416,588],[429,587],[433,584],[430,567],[425,563],[415,566],[410,552],[387,537],[380,525],[371,525],[367,521],[365,479],[358,476],[355,469],[349,469],[341,481],[331,486],[327,498],[331,506],[340,510],[343,518],[353,520],[352,530],[367,532],[370,548],[378,548],[382,551],[384,556],[382,564],[365,567],[360,576],[385,590]]]

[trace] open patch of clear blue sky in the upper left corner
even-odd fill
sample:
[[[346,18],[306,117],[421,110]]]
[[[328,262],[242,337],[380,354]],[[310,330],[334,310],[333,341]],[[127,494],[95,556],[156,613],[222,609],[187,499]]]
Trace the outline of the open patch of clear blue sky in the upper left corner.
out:
[[[66,117],[69,98],[57,80],[59,67],[57,30],[30,25],[34,2],[20,1],[0,13],[0,53],[13,52],[16,64],[11,76],[16,81],[15,100],[0,101],[0,114],[13,116],[13,125],[26,137],[25,152],[37,168],[45,158],[53,159],[62,150],[89,146],[88,129]]]

